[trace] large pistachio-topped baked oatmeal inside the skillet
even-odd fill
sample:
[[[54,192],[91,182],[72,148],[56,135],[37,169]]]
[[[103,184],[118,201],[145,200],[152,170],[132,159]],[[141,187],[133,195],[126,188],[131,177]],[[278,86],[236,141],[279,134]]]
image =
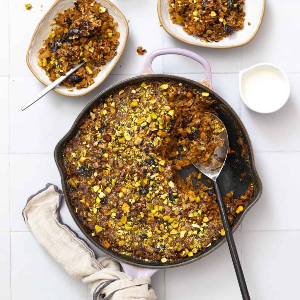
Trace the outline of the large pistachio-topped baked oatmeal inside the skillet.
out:
[[[138,82],[91,110],[64,149],[67,193],[96,242],[146,261],[193,256],[225,235],[216,196],[201,173],[222,144],[210,94],[176,81]],[[184,154],[187,152],[187,156]],[[196,179],[196,184],[193,183]],[[198,180],[197,180],[198,179]],[[229,221],[253,192],[224,197]]]

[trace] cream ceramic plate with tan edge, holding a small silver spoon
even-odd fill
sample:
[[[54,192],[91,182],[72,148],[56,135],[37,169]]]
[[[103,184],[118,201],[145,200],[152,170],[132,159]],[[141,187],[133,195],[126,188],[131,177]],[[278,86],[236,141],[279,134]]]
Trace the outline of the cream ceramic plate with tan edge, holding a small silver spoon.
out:
[[[54,91],[56,91],[58,94],[68,96],[68,97],[79,97],[95,89],[104,81],[104,79],[113,70],[113,67],[116,65],[116,63],[118,62],[119,58],[121,57],[125,49],[125,45],[129,33],[128,22],[125,16],[110,1],[99,0],[97,2],[100,2],[103,6],[107,7],[109,14],[114,17],[114,21],[119,23],[119,25],[117,26],[117,30],[120,32],[120,38],[119,38],[120,44],[117,48],[118,54],[110,61],[107,61],[106,64],[101,67],[101,72],[94,78],[95,80],[94,84],[79,90],[74,88],[73,92],[68,91],[68,89],[65,86],[58,85],[54,89]],[[73,7],[73,6],[74,6],[74,0],[55,1],[55,3],[50,7],[50,9],[47,11],[47,13],[43,16],[41,21],[38,23],[38,26],[35,29],[35,32],[32,36],[32,40],[30,42],[27,51],[26,61],[33,75],[35,75],[35,77],[44,85],[50,84],[51,81],[49,80],[49,77],[46,75],[45,70],[38,66],[38,50],[41,49],[44,40],[48,37],[50,33],[50,27],[51,27],[50,24],[52,23],[55,16],[57,16],[58,12],[64,11],[67,7]]]

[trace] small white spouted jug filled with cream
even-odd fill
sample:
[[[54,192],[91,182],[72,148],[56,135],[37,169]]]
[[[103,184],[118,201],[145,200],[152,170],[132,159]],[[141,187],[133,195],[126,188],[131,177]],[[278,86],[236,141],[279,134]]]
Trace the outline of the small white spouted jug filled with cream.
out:
[[[257,113],[273,113],[289,99],[286,73],[273,64],[255,64],[239,73],[239,90],[244,104]]]

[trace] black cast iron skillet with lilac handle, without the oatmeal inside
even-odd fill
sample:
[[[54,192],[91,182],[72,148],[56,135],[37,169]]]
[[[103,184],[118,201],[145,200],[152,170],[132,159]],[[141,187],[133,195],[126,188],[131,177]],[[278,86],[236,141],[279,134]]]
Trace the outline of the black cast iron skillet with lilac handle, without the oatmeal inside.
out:
[[[202,64],[204,67],[204,77],[200,82],[195,82],[193,80],[185,79],[178,76],[173,75],[156,75],[153,73],[151,65],[152,61],[155,57],[159,55],[165,55],[165,54],[179,54],[184,55],[187,57],[190,57],[194,59],[195,61]],[[201,56],[197,55],[194,52],[185,50],[185,49],[179,49],[179,48],[165,48],[165,49],[159,49],[154,52],[152,52],[148,58],[146,59],[146,62],[144,64],[144,67],[139,74],[139,76],[123,80],[119,83],[116,83],[109,88],[102,91],[100,94],[98,94],[94,99],[92,99],[88,105],[82,110],[82,112],[79,114],[77,119],[75,120],[73,126],[69,130],[69,132],[59,141],[57,146],[55,147],[54,151],[54,157],[55,162],[58,167],[59,173],[61,175],[61,184],[62,189],[64,193],[64,199],[66,200],[67,206],[70,210],[70,213],[76,222],[76,224],[79,226],[81,231],[85,234],[85,236],[88,238],[88,240],[94,244],[96,247],[98,247],[100,250],[104,251],[107,255],[112,256],[113,258],[119,260],[122,265],[124,266],[124,263],[133,265],[135,267],[142,267],[142,268],[152,268],[152,269],[162,269],[162,268],[168,268],[168,267],[177,267],[181,265],[185,265],[190,262],[194,262],[197,259],[200,259],[212,251],[216,250],[220,245],[222,245],[226,241],[226,237],[223,236],[219,238],[211,247],[207,248],[206,250],[202,250],[197,252],[192,257],[185,257],[183,259],[180,259],[178,261],[174,262],[168,262],[168,263],[162,263],[160,261],[153,262],[148,261],[146,262],[143,259],[138,259],[130,256],[122,255],[121,253],[118,253],[112,249],[105,249],[102,245],[96,243],[94,239],[91,237],[91,232],[79,223],[79,221],[76,219],[75,212],[73,210],[73,206],[71,204],[71,200],[67,193],[67,187],[68,187],[68,176],[66,173],[66,170],[64,169],[64,158],[63,158],[63,151],[65,148],[66,143],[73,139],[76,135],[79,126],[82,125],[85,118],[89,115],[90,111],[98,106],[101,101],[106,99],[109,95],[112,95],[114,91],[120,90],[122,88],[125,88],[127,85],[132,85],[136,82],[143,82],[145,80],[175,80],[178,82],[185,82],[188,83],[193,88],[201,88],[205,91],[208,91],[210,95],[212,96],[212,99],[215,100],[214,107],[217,107],[217,113],[219,114],[219,118],[223,121],[224,125],[226,126],[228,137],[229,137],[229,146],[231,150],[235,151],[234,154],[229,154],[226,160],[226,164],[223,167],[223,170],[218,178],[218,183],[220,186],[220,190],[222,195],[224,196],[226,193],[228,193],[230,190],[234,191],[235,197],[244,195],[244,193],[247,190],[247,187],[252,183],[254,187],[254,193],[251,199],[249,199],[249,204],[244,209],[244,211],[237,215],[237,217],[234,220],[232,231],[235,231],[235,229],[238,227],[238,225],[241,223],[243,217],[245,214],[249,211],[249,209],[257,202],[259,199],[261,193],[262,193],[262,184],[259,179],[259,176],[257,174],[255,164],[254,164],[254,157],[253,157],[253,150],[251,146],[251,142],[249,139],[249,136],[247,134],[246,129],[244,128],[244,125],[242,124],[241,120],[237,116],[237,114],[234,112],[234,110],[229,106],[229,104],[224,101],[219,95],[217,95],[211,87],[211,68],[208,64],[208,61],[206,61]],[[248,148],[248,153],[244,156],[241,155],[242,152],[242,146],[240,146],[237,143],[237,140],[241,138],[244,142],[244,144]],[[183,170],[180,172],[180,174],[185,178],[188,174],[190,174],[193,170],[193,167]],[[240,181],[241,174],[246,173],[247,175]],[[205,181],[205,176],[202,176],[202,180]],[[150,271],[150,270],[149,270]],[[154,271],[154,270],[153,270]]]

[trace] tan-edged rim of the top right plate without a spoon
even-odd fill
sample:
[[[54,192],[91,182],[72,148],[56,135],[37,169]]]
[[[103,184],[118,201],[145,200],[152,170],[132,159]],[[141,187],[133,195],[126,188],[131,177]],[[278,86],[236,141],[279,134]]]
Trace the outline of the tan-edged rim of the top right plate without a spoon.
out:
[[[164,22],[164,18],[161,14],[161,2],[162,1],[168,1],[168,0],[158,0],[157,2],[157,12],[158,12],[158,18],[159,18],[159,21],[161,22],[161,26],[164,28],[164,30],[169,34],[171,35],[173,38],[176,38],[177,40],[179,41],[182,41],[186,44],[190,44],[190,45],[193,45],[193,46],[199,46],[199,47],[205,47],[205,48],[212,48],[212,49],[230,49],[230,48],[236,48],[236,47],[241,47],[241,46],[244,46],[248,43],[250,43],[253,38],[255,38],[255,36],[257,35],[257,32],[259,31],[259,28],[261,26],[261,23],[262,23],[262,19],[264,17],[264,14],[265,14],[265,1],[266,0],[263,0],[263,8],[262,8],[262,13],[261,13],[261,16],[260,16],[260,20],[259,20],[259,24],[258,26],[256,27],[256,30],[255,32],[250,36],[249,39],[247,39],[247,41],[243,42],[243,43],[240,43],[240,44],[236,44],[236,45],[231,45],[231,46],[216,46],[215,44],[211,44],[211,43],[208,43],[208,44],[205,44],[203,42],[201,42],[199,40],[199,43],[193,43],[193,42],[190,42],[190,41],[187,41],[183,38],[180,38],[179,36],[177,36],[175,33],[173,33],[171,30],[169,30]],[[176,24],[174,24],[176,25]]]

